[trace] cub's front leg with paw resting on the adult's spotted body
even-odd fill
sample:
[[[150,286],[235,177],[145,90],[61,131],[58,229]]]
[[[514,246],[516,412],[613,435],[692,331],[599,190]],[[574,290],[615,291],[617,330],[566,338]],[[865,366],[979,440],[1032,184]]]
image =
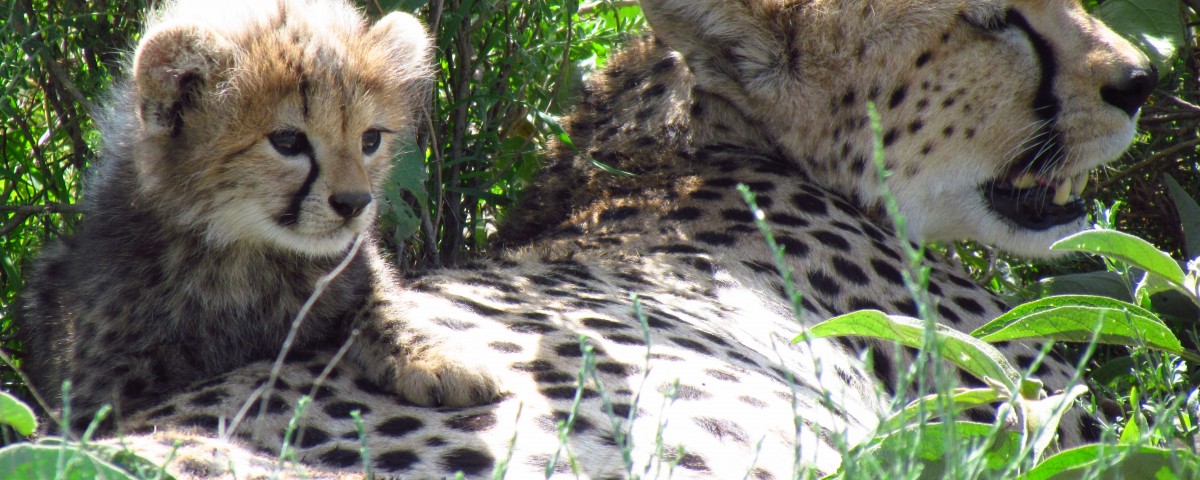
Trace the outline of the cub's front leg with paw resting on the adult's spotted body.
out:
[[[391,270],[373,252],[372,289],[354,328],[350,354],[378,384],[420,406],[469,407],[499,397],[496,373],[436,325],[403,318]]]

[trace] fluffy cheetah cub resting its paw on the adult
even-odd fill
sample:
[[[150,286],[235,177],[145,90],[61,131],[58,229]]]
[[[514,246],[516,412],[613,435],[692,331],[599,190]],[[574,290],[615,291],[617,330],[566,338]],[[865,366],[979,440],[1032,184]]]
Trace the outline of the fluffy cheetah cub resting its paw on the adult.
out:
[[[430,79],[428,37],[341,0],[181,0],[151,14],[98,115],[83,222],[46,248],[18,328],[32,385],[72,421],[145,408],[274,359],[314,283],[364,242],[299,328],[421,406],[492,401],[482,361],[406,322],[372,239],[391,145]],[[53,406],[52,406],[53,407]]]

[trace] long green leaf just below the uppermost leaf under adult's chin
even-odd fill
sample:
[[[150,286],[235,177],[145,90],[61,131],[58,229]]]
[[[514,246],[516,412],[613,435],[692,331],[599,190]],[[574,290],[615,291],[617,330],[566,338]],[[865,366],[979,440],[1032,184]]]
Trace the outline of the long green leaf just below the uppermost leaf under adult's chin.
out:
[[[1097,326],[1099,326],[1097,329]],[[1180,340],[1150,311],[1120,300],[1062,295],[1013,308],[971,332],[985,342],[1051,338],[1063,342],[1139,344],[1184,354]]]

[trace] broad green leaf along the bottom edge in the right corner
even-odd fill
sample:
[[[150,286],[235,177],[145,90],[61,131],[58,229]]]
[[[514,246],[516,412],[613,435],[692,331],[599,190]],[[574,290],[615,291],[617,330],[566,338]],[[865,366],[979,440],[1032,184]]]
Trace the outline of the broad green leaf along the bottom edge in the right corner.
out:
[[[1039,463],[1024,479],[1186,480],[1200,476],[1198,466],[1200,458],[1183,449],[1096,444],[1061,451]]]

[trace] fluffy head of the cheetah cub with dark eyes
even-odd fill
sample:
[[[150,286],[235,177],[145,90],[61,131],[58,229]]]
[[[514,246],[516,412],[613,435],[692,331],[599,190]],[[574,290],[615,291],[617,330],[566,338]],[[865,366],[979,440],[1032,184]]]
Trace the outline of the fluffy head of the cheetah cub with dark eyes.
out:
[[[428,78],[413,17],[341,0],[176,1],[133,61],[138,188],[215,246],[335,254],[367,230]]]

